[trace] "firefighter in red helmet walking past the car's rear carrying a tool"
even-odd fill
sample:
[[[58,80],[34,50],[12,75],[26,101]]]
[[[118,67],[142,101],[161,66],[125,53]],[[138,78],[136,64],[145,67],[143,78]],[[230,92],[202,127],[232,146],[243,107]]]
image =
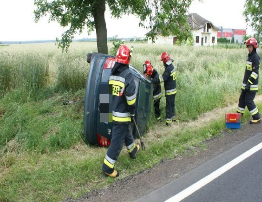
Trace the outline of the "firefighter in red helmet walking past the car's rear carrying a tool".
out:
[[[109,86],[112,87],[113,95],[113,128],[111,143],[102,165],[102,172],[106,177],[119,176],[114,165],[124,143],[132,159],[140,150],[131,130],[131,120],[135,116],[137,98],[135,81],[129,71],[131,55],[132,49],[121,45],[117,50],[115,64],[109,77]]]

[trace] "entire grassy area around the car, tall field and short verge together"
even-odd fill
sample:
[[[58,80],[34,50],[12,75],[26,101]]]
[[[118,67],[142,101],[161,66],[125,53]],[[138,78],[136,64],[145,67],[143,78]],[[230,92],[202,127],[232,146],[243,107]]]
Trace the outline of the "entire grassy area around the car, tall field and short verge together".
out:
[[[73,43],[67,54],[54,44],[12,45],[0,51],[0,78],[9,80],[0,84],[10,85],[0,99],[0,201],[60,201],[115,181],[101,175],[107,149],[89,145],[82,134],[89,71],[85,56],[95,49],[95,43]],[[116,164],[121,178],[203,148],[204,140],[224,130],[224,113],[236,111],[246,49],[136,44],[131,63],[142,70],[149,59],[161,74],[163,51],[177,68],[178,121],[166,128],[156,123],[152,110],[143,136],[146,151],[130,161],[122,150]],[[34,75],[39,78],[32,80]],[[64,105],[65,100],[74,103]],[[164,97],[161,113],[164,119]],[[246,111],[243,121],[248,118]]]

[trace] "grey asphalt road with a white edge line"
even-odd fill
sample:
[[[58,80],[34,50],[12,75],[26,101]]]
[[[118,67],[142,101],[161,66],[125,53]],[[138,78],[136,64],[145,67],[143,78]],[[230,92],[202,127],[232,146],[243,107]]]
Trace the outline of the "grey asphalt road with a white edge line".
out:
[[[262,202],[262,133],[136,202]]]

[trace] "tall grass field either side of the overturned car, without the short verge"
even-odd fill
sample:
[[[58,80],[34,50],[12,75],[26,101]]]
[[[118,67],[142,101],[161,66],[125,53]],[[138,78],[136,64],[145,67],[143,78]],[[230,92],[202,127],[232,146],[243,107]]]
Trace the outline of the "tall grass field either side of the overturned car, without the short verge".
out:
[[[72,107],[82,110],[83,106],[78,102],[64,112],[67,107],[62,102],[74,92],[77,94],[75,99],[83,101],[89,71],[85,57],[94,49],[95,43],[75,43],[67,54],[56,49],[54,44],[44,45],[41,49],[37,45],[10,46],[0,51],[1,86],[6,87],[2,88],[5,96],[0,105],[1,147],[15,139],[20,143],[21,151],[44,153],[67,149],[81,141],[82,111]],[[160,55],[163,51],[170,53],[177,68],[176,114],[179,121],[195,120],[207,111],[237,102],[246,50],[136,44],[131,63],[142,71],[144,61],[150,60],[162,74],[164,68]],[[261,88],[261,82],[259,85]],[[162,92],[164,94],[163,85]],[[49,97],[55,95],[60,97],[59,101],[51,102]],[[164,119],[164,96],[161,112]],[[70,126],[72,118],[76,122]],[[151,120],[154,120],[153,113]]]

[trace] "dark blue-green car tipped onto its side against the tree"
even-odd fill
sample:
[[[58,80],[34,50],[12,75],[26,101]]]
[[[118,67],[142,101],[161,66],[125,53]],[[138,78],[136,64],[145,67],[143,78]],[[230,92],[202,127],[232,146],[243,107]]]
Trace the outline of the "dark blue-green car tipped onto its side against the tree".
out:
[[[109,146],[112,133],[112,93],[109,89],[109,76],[115,64],[115,57],[101,53],[88,53],[89,75],[85,86],[84,134],[91,145]],[[135,120],[141,134],[145,132],[150,117],[153,85],[151,81],[133,65],[129,69],[136,84]],[[137,137],[136,127],[133,136]]]

